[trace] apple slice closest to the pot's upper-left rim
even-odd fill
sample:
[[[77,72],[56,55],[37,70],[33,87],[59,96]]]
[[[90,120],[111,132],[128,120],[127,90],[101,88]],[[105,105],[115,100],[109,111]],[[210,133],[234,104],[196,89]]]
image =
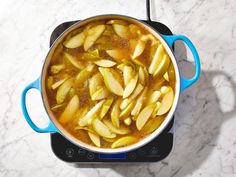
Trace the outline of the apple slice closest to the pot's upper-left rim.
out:
[[[74,49],[83,45],[85,39],[85,34],[83,32],[72,36],[70,39],[66,40],[63,45],[66,48]]]

